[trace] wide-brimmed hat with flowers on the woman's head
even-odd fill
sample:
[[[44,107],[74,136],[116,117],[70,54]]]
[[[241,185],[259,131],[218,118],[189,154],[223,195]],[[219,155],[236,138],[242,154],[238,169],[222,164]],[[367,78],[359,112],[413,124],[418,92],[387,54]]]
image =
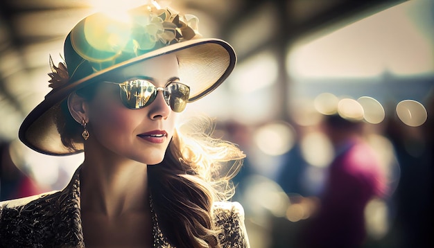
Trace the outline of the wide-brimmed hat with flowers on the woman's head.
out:
[[[126,14],[126,15],[125,15]],[[152,57],[175,53],[182,82],[191,88],[189,102],[209,94],[232,72],[236,55],[221,39],[204,39],[198,33],[198,19],[180,15],[171,8],[152,4],[119,15],[90,15],[80,21],[64,41],[64,63],[58,67],[50,57],[53,88],[26,116],[19,139],[44,154],[65,155],[83,151],[63,145],[55,118],[69,94],[107,73]]]

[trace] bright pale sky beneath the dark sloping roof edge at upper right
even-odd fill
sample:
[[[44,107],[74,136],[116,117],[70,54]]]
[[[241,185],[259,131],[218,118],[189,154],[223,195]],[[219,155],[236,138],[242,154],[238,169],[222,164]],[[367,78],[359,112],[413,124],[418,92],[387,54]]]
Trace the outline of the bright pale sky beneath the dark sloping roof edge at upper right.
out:
[[[294,46],[295,78],[434,73],[434,1],[407,1],[307,44]]]

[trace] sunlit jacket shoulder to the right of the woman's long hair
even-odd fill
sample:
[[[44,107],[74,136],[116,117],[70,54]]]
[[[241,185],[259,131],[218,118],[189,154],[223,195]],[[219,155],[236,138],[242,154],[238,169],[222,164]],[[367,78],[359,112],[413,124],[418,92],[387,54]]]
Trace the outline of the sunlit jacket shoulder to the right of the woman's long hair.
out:
[[[244,209],[238,202],[215,202],[214,223],[220,229],[222,247],[249,247]]]

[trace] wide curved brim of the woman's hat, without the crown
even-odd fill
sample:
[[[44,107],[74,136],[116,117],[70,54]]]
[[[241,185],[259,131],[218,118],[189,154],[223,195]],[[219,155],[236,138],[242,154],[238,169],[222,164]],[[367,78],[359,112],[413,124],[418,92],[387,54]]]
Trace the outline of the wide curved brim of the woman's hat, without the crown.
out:
[[[198,100],[216,89],[229,76],[236,64],[234,49],[221,39],[191,39],[159,48],[51,90],[42,103],[21,123],[19,139],[29,148],[43,154],[61,156],[83,152],[83,143],[74,144],[76,150],[67,148],[62,143],[55,124],[60,103],[73,91],[97,82],[109,72],[116,73],[128,65],[168,53],[176,54],[180,78],[191,88],[189,102]]]

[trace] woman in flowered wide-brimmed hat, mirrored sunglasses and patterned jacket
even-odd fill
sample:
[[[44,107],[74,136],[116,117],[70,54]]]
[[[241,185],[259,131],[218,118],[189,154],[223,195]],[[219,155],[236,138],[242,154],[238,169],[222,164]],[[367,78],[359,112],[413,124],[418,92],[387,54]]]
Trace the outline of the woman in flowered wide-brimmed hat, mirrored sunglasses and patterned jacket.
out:
[[[65,39],[66,65],[50,59],[53,89],[19,138],[85,160],[64,190],[1,203],[1,247],[248,247],[243,208],[224,201],[234,173],[219,175],[243,153],[177,126],[229,76],[232,47],[170,8],[119,17],[86,17]]]

